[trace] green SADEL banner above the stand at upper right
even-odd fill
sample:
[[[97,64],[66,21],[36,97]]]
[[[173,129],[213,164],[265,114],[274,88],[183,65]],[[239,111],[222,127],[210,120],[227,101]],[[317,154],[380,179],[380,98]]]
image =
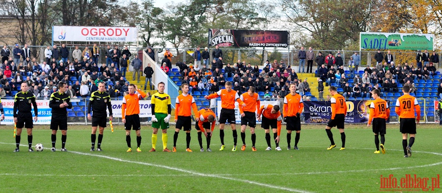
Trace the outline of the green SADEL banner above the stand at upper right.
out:
[[[360,32],[361,49],[433,50],[434,34]]]

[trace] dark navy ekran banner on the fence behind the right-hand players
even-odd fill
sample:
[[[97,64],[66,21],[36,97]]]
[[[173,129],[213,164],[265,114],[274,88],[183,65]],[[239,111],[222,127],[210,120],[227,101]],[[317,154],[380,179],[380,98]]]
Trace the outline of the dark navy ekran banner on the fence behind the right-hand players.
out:
[[[346,123],[367,122],[371,100],[346,101]],[[330,101],[304,101],[305,123],[327,123],[331,119]]]

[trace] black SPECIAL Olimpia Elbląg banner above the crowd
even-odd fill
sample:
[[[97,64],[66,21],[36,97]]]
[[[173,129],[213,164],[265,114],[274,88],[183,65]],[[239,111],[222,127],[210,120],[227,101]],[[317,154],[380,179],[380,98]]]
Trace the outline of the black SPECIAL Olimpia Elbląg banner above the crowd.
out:
[[[288,31],[209,29],[211,47],[278,47],[289,45]]]

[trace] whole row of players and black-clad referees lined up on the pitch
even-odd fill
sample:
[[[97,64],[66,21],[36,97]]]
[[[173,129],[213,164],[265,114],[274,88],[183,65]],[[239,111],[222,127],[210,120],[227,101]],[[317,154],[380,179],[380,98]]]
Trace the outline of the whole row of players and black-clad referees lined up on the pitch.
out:
[[[35,117],[34,120],[37,121],[37,105],[35,102],[35,96],[33,96],[27,91],[28,85],[26,83],[22,84],[22,92],[17,93],[15,96],[14,103],[14,121],[17,123],[17,137],[16,144],[17,148],[15,151],[19,151],[20,136],[23,126],[28,129],[28,144],[29,151],[33,151],[32,145],[32,114],[31,114],[31,104],[34,106]],[[67,85],[63,82],[58,84],[58,92],[51,95],[50,98],[50,108],[52,108],[52,151],[55,151],[55,141],[56,141],[56,131],[58,129],[62,132],[62,148],[61,151],[66,151],[66,130],[67,130],[67,108],[72,108],[70,102],[70,97],[64,92],[66,91]],[[169,120],[171,118],[171,100],[170,96],[164,93],[165,84],[163,82],[158,84],[158,93],[152,95],[151,108],[152,108],[152,149],[151,151],[156,151],[157,133],[158,130],[162,129],[162,139],[163,139],[163,151],[169,152],[167,148],[167,129],[169,127]],[[174,134],[174,145],[172,151],[176,151],[176,141],[178,138],[179,131],[184,128],[186,132],[187,149],[186,151],[192,151],[189,147],[191,136],[190,130],[192,128],[192,111],[196,115],[195,128],[198,131],[198,141],[200,145],[200,150],[204,151],[202,147],[202,133],[207,138],[207,151],[210,149],[210,139],[212,136],[213,129],[215,127],[216,115],[210,109],[201,109],[197,111],[197,107],[193,96],[189,95],[189,85],[183,84],[181,86],[183,94],[176,98],[175,107],[175,117],[176,122],[175,134]],[[137,135],[137,151],[140,152],[141,135],[140,135],[140,121],[139,121],[139,99],[146,96],[141,90],[137,89],[136,85],[129,85],[129,94],[123,98],[122,105],[122,122],[124,123],[126,130],[126,142],[128,145],[128,152],[132,151],[131,148],[131,129],[136,131]],[[262,127],[266,131],[266,141],[267,149],[271,150],[270,143],[270,128],[273,130],[274,139],[276,141],[276,150],[281,150],[278,145],[281,120],[282,117],[279,113],[279,106],[275,105],[263,105],[260,106],[260,99],[258,94],[254,92],[254,88],[250,87],[247,93],[238,95],[232,90],[232,83],[226,82],[225,89],[222,89],[212,95],[204,96],[206,99],[212,99],[216,97],[221,97],[221,114],[220,114],[220,139],[221,148],[224,150],[224,126],[228,122],[231,125],[233,131],[233,141],[234,145],[232,151],[236,151],[237,145],[237,132],[235,124],[235,101],[239,103],[239,110],[241,113],[241,139],[243,145],[241,150],[246,149],[245,142],[245,130],[247,125],[250,127],[252,150],[256,151],[255,141],[256,135],[254,133],[254,128],[256,126],[256,118],[260,120],[261,115],[263,115]],[[344,120],[347,112],[347,105],[345,103],[345,98],[336,92],[335,87],[330,87],[331,94],[331,120],[326,126],[326,132],[330,139],[331,145],[327,148],[328,150],[334,148],[336,144],[333,141],[333,136],[331,133],[331,128],[336,126],[341,134],[342,146],[340,150],[345,149],[345,133],[344,133]],[[138,93],[136,93],[138,92]],[[416,122],[414,117],[414,112],[417,113],[417,123],[420,119],[420,107],[417,100],[409,95],[410,88],[408,86],[403,87],[404,95],[399,97],[396,102],[396,113],[399,115],[401,126],[400,131],[403,134],[403,146],[405,156],[411,156],[411,146],[414,143],[414,137],[416,133]],[[389,116],[388,103],[380,98],[380,92],[378,90],[372,91],[373,98],[375,99],[370,105],[370,119],[367,126],[373,120],[373,132],[375,134],[375,144],[377,151],[379,153],[379,139],[378,135],[381,135],[381,150],[385,153],[385,134],[386,134],[386,123],[385,120]],[[112,109],[111,109],[111,97],[105,92],[105,84],[100,83],[98,86],[98,91],[91,94],[90,102],[87,108],[87,118],[92,121],[92,134],[91,134],[91,151],[95,150],[95,140],[96,140],[96,130],[99,128],[98,144],[97,150],[101,151],[101,142],[103,139],[103,131],[107,123],[107,114],[104,109],[106,107],[109,109],[110,121],[112,121]],[[412,105],[413,103],[413,105]],[[259,109],[258,115],[255,115],[255,111]],[[296,132],[294,149],[299,150],[298,143],[300,140],[301,133],[301,120],[300,114],[304,109],[302,97],[296,93],[296,85],[290,85],[290,93],[284,97],[283,105],[283,115],[284,120],[287,123],[287,149],[291,149],[291,133]],[[3,110],[0,109],[2,116]],[[90,112],[92,111],[92,115]],[[212,124],[210,126],[210,124]],[[407,144],[408,134],[410,134],[410,143]]]

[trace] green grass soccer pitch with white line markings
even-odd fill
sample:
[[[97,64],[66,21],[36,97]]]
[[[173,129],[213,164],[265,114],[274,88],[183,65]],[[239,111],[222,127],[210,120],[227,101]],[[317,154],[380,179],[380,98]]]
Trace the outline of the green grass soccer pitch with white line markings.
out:
[[[300,150],[286,150],[285,125],[281,129],[282,151],[265,151],[263,129],[256,130],[256,152],[251,151],[250,132],[246,131],[246,151],[232,152],[231,130],[225,130],[224,151],[219,151],[218,126],[212,136],[213,152],[200,152],[195,130],[191,148],[185,152],[186,134],[181,131],[177,152],[148,152],[151,126],[142,125],[142,152],[126,152],[122,125],[108,126],[102,152],[90,152],[90,126],[69,125],[66,148],[61,152],[61,132],[57,133],[56,152],[51,152],[51,131],[48,125],[36,125],[33,145],[45,146],[42,152],[28,152],[27,135],[22,134],[20,152],[13,153],[13,127],[0,126],[0,192],[347,192],[410,191],[410,187],[384,189],[381,175],[392,174],[400,186],[406,174],[429,178],[426,188],[437,187],[432,177],[442,173],[442,128],[436,124],[419,124],[413,145],[413,156],[404,158],[402,136],[398,124],[387,125],[386,154],[374,154],[371,126],[346,125],[346,150],[339,131],[332,129],[337,145],[330,145],[324,125],[302,125]],[[174,126],[171,126],[174,127]],[[239,126],[237,126],[239,128]],[[173,131],[168,129],[168,148],[172,149]],[[238,130],[239,133],[239,130]],[[294,133],[292,145],[294,145]],[[271,135],[273,139],[273,134]],[[136,147],[135,132],[132,146]],[[157,150],[162,149],[158,134]],[[206,140],[203,136],[203,146]],[[275,143],[272,140],[272,148]],[[133,148],[135,150],[135,148]],[[393,179],[391,178],[391,179]],[[435,181],[433,179],[433,181]],[[386,180],[383,181],[385,183]],[[394,182],[394,181],[393,181]],[[422,184],[423,185],[423,184]],[[439,186],[440,187],[440,186]],[[412,190],[422,190],[416,188]],[[424,189],[425,190],[425,189]],[[435,192],[442,192],[436,188]]]

